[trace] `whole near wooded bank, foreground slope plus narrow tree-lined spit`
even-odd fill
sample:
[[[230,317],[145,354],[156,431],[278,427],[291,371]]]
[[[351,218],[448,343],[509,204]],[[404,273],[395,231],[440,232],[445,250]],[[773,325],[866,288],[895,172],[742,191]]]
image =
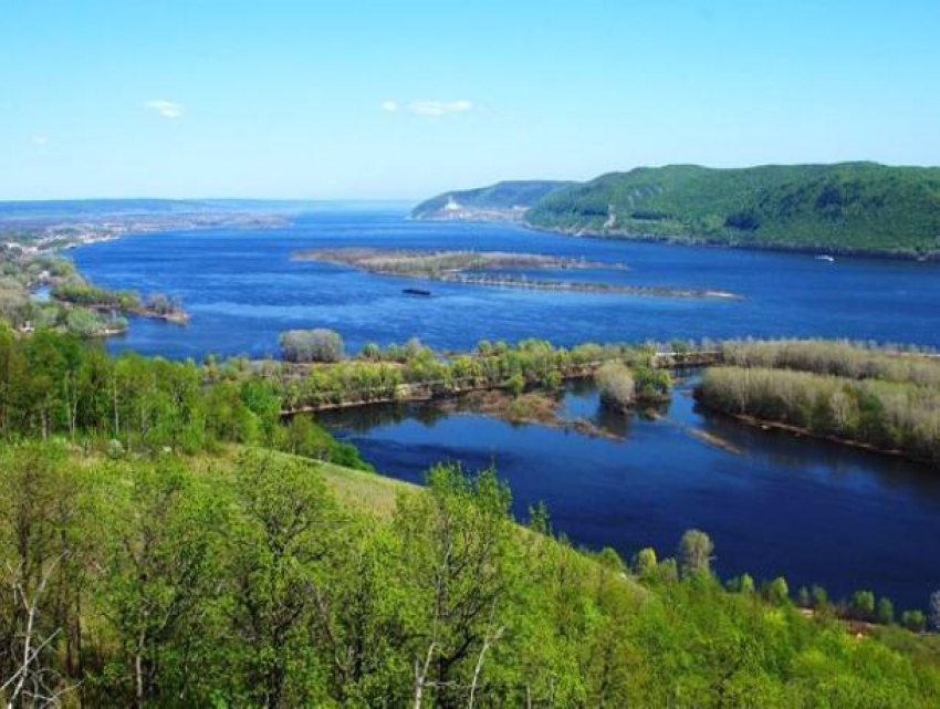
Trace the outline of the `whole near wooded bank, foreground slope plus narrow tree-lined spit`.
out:
[[[348,356],[326,332],[283,345],[294,362],[197,365],[0,326],[4,701],[929,707],[940,692],[923,634],[940,597],[898,616],[865,590],[722,580],[698,530],[631,559],[576,550],[551,510],[514,518],[494,470],[436,467],[414,488],[281,415],[391,372],[521,394],[598,362],[605,398],[630,406],[668,392],[660,347],[480,343],[441,361],[417,342]]]

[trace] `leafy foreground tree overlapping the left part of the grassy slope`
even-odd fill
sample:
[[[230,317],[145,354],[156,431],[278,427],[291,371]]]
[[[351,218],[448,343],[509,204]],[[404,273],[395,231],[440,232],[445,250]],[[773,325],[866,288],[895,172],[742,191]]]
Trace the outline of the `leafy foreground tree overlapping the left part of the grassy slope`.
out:
[[[322,703],[307,627],[320,574],[341,546],[335,501],[310,465],[269,452],[244,453],[232,487],[223,578],[232,665],[244,692],[233,703]]]

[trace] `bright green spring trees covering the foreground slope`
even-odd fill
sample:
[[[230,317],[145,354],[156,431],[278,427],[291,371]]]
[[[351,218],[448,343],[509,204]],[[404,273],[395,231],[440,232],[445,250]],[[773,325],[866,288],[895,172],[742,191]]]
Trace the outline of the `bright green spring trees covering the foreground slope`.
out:
[[[341,504],[318,466],[0,448],[0,680],[29,644],[27,686],[82,706],[929,707],[940,691],[930,638],[859,643],[708,574],[640,586],[616,554],[515,525],[491,470],[438,467],[382,517]]]

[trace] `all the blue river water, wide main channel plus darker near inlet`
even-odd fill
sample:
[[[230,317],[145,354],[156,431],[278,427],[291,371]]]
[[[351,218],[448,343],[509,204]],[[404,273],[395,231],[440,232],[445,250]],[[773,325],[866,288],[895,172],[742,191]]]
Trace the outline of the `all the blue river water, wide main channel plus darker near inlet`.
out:
[[[180,327],[135,321],[114,351],[168,357],[276,354],[278,333],[332,327],[349,348],[420,337],[464,348],[481,338],[555,344],[671,337],[847,336],[940,346],[940,268],[900,261],[696,249],[574,239],[502,225],[436,225],[397,210],[310,213],[272,230],[134,236],[70,253],[94,282],[179,296]],[[337,246],[467,248],[584,257],[609,267],[531,273],[625,284],[730,291],[741,300],[669,299],[503,290],[431,283],[291,260]],[[589,389],[572,390],[573,415],[622,440],[427,407],[325,417],[383,472],[420,480],[434,461],[495,463],[516,511],[544,500],[554,526],[592,548],[669,554],[686,529],[716,540],[722,575],[783,574],[795,588],[834,595],[859,587],[923,607],[940,588],[940,476],[901,460],[751,430],[696,410],[677,392],[666,418],[604,414]],[[718,448],[691,431],[732,444]]]

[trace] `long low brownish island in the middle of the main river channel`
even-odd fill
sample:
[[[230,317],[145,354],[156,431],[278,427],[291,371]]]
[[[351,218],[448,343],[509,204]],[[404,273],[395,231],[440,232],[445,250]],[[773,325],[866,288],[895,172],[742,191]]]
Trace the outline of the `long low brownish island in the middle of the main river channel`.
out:
[[[447,283],[462,283],[466,285],[573,293],[652,295],[660,298],[740,298],[734,293],[710,289],[545,280],[531,279],[524,273],[494,272],[499,270],[626,269],[623,263],[603,263],[586,259],[552,257],[540,253],[349,247],[296,251],[293,258],[296,261],[318,261],[335,265],[349,265],[362,271],[367,271],[368,273],[382,275],[420,278]],[[406,292],[410,293],[414,290],[406,289]],[[420,294],[429,293],[421,292]]]

